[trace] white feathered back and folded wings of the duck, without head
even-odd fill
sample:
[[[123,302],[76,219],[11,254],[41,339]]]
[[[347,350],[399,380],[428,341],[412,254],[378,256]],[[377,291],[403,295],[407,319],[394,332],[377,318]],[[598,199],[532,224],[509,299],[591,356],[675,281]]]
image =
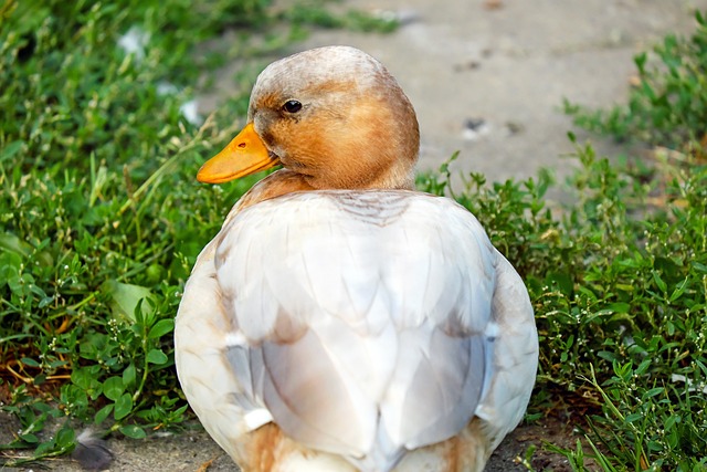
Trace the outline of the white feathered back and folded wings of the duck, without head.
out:
[[[292,454],[293,471],[441,470],[418,449],[474,417],[488,455],[521,420],[538,357],[527,291],[476,218],[398,190],[232,212],[187,283],[175,342],[219,444],[238,462],[272,421],[323,452]]]

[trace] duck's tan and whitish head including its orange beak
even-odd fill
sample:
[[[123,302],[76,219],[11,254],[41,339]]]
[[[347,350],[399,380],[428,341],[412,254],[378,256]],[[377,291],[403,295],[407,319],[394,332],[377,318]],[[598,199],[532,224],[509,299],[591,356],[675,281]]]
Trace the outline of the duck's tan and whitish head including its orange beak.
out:
[[[327,46],[260,74],[246,126],[197,178],[218,183],[282,165],[312,189],[411,189],[419,148],[414,109],[386,67]]]

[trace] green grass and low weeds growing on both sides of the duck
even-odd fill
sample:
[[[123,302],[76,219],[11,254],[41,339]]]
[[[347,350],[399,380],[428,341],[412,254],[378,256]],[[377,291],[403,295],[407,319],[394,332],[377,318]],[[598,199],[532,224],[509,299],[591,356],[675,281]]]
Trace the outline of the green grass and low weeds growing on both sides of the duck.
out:
[[[28,460],[71,451],[84,424],[143,438],[192,418],[172,319],[199,251],[253,182],[201,186],[196,170],[241,126],[264,53],[310,25],[390,28],[318,2],[207,0],[198,14],[191,3],[0,7],[0,400],[20,422],[0,448],[27,449]],[[150,34],[141,59],[116,46],[133,27]],[[225,30],[238,32],[226,51],[194,53]],[[255,64],[234,78],[243,93],[204,125],[186,122],[179,107],[199,75],[233,57]],[[627,106],[567,107],[594,130],[650,143],[653,158],[609,160],[577,144],[567,183],[546,171],[495,183],[473,174],[451,189],[444,166],[419,187],[452,191],[526,280],[541,337],[528,421],[569,415],[583,441],[545,448],[574,470],[592,459],[603,470],[701,471],[705,22],[636,63]],[[165,81],[178,92],[160,93]],[[548,202],[552,188],[571,203]]]

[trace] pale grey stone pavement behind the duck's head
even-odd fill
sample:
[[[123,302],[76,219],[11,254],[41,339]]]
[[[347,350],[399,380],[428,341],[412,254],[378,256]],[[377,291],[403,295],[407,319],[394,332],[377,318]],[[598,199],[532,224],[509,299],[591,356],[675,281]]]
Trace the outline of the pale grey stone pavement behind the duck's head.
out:
[[[559,156],[572,146],[562,98],[622,103],[633,55],[667,32],[693,31],[693,11],[707,1],[356,0],[345,8],[394,12],[408,24],[390,35],[321,32],[297,48],[344,43],[378,57],[418,112],[420,167],[436,169],[460,150],[456,168],[498,180],[540,166],[564,175],[571,161]]]

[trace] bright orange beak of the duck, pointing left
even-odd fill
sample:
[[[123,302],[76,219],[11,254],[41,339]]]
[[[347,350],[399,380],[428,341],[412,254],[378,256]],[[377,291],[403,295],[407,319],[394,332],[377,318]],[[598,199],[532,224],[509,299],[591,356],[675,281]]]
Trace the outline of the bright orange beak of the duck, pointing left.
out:
[[[278,164],[279,159],[267,151],[263,140],[255,133],[253,123],[249,123],[225,149],[201,166],[197,180],[204,183],[223,183]]]

